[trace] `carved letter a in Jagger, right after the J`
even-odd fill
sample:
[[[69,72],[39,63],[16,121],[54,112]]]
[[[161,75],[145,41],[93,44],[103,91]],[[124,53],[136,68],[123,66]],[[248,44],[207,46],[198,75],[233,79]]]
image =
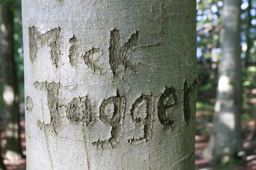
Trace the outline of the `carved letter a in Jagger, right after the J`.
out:
[[[74,98],[67,104],[67,119],[71,123],[88,125],[93,119],[93,109],[88,96]]]

